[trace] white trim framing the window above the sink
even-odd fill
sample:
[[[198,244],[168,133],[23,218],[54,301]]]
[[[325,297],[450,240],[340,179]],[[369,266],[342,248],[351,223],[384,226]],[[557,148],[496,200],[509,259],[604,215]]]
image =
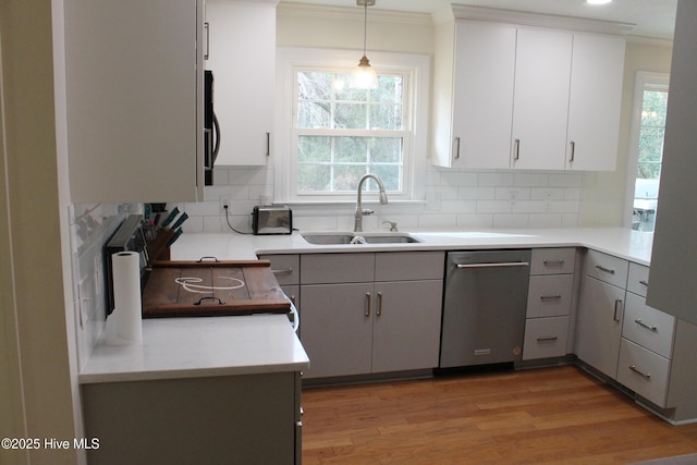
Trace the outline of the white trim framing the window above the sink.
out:
[[[273,131],[274,203],[284,204],[343,204],[355,201],[355,195],[319,198],[296,195],[292,191],[292,176],[296,172],[291,154],[293,137],[293,83],[297,66],[343,68],[351,71],[357,65],[362,51],[284,48],[277,49],[276,101],[277,112]],[[412,138],[405,144],[404,183],[405,193],[390,196],[392,201],[424,201],[428,155],[428,109],[430,93],[430,58],[412,53],[369,52],[370,64],[378,71],[408,71],[409,94],[406,105],[412,107],[409,123]],[[408,150],[408,154],[406,152]],[[370,198],[370,194],[367,194]]]

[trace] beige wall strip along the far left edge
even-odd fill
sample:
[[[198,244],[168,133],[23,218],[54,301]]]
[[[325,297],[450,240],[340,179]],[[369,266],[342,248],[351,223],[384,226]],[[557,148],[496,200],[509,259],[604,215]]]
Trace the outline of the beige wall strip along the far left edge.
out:
[[[57,163],[52,2],[0,2],[0,437],[80,436],[64,292],[65,179]],[[70,276],[65,277],[70,283]],[[2,464],[75,464],[75,450],[0,450]]]

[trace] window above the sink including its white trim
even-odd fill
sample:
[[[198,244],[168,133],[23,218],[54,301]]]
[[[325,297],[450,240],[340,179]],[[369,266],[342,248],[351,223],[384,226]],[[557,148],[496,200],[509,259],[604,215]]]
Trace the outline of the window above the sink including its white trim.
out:
[[[428,119],[425,110],[417,112],[416,96],[418,108],[427,108],[427,90],[417,89],[428,89],[428,58],[371,53],[378,88],[353,89],[354,54],[280,52],[280,81],[290,90],[289,120],[281,126],[288,127],[288,146],[277,149],[285,157],[274,162],[283,173],[277,175],[277,201],[355,201],[367,173],[380,176],[390,201],[419,199]],[[372,181],[364,185],[367,198],[377,191]]]

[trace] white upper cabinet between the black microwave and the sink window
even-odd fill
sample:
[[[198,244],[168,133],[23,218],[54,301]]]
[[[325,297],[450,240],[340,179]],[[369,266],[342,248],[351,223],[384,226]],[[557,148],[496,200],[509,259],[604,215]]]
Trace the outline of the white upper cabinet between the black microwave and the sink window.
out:
[[[213,107],[220,123],[216,167],[261,166],[271,154],[278,0],[208,0]]]

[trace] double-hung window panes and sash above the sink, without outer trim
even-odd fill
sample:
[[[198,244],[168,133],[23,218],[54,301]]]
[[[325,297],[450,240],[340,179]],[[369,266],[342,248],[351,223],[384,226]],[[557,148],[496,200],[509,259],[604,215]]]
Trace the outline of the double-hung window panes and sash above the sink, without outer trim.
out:
[[[348,88],[342,72],[298,70],[296,78],[297,194],[355,193],[367,173],[401,193],[406,77],[379,75],[372,90]]]

